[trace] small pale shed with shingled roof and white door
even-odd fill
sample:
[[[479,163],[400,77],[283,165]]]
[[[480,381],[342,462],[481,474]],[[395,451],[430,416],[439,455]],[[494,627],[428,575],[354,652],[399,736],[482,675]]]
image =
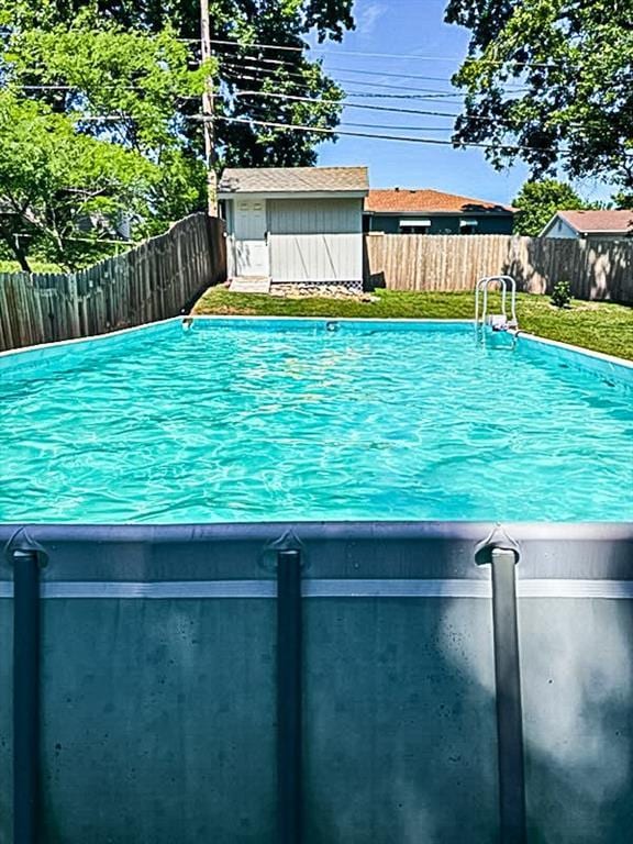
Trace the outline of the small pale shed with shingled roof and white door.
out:
[[[229,276],[363,289],[366,167],[226,169]]]

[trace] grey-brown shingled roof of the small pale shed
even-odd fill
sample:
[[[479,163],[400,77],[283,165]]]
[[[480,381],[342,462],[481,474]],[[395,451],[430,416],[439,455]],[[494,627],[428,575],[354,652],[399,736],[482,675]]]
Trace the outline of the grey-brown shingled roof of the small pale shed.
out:
[[[224,170],[219,193],[366,193],[367,167],[252,167]]]

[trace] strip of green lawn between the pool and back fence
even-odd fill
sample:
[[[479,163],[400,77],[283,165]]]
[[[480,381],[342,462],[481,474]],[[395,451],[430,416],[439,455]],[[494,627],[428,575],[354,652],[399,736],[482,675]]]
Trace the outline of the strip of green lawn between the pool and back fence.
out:
[[[345,299],[284,299],[275,296],[231,293],[224,286],[210,288],[195,313],[235,313],[262,316],[375,316],[377,319],[473,319],[473,293],[409,293],[377,290],[376,302]],[[492,309],[497,303],[491,297]],[[517,315],[522,331],[573,343],[633,360],[633,308],[607,302],[574,300],[569,310],[557,310],[547,296],[521,293]]]

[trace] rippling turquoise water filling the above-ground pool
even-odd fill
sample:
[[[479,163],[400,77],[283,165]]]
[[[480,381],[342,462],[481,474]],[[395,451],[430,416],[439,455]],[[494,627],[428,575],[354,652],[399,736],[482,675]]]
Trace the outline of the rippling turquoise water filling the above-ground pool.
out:
[[[248,320],[10,355],[0,521],[629,521],[631,370],[584,359]]]

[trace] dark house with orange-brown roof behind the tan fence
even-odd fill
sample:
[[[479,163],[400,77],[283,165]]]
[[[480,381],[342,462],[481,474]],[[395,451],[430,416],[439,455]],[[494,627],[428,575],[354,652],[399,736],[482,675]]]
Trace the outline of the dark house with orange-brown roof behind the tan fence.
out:
[[[386,234],[512,234],[514,210],[441,190],[370,190],[365,231]]]

